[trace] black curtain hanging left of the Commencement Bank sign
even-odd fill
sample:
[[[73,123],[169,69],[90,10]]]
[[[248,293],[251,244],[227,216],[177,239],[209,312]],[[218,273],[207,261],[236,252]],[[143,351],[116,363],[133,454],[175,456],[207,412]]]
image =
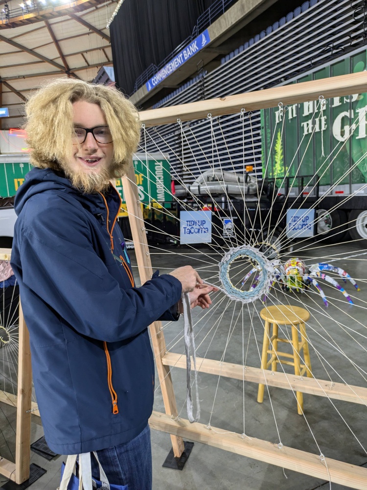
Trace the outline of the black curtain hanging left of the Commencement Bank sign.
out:
[[[125,0],[110,26],[117,87],[130,95],[137,77],[190,36],[197,18],[213,2]]]

